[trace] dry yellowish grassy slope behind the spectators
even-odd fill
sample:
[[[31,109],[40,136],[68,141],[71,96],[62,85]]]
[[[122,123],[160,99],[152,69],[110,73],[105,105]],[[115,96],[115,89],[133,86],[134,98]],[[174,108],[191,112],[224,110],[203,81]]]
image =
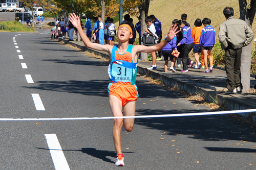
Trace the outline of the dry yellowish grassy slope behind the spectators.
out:
[[[148,15],[154,14],[162,22],[163,37],[167,34],[169,27],[174,19],[181,19],[181,14],[188,15],[187,22],[191,29],[194,28],[194,22],[197,18],[203,20],[207,17],[211,19],[211,26],[216,30],[216,40],[218,40],[218,33],[220,24],[225,21],[223,9],[225,7],[232,7],[234,9],[234,16],[240,17],[238,0],[153,0],[150,2]],[[138,22],[136,17],[133,17],[134,24]],[[118,27],[119,22],[116,23]],[[256,32],[256,20],[252,24],[253,32]],[[138,37],[138,36],[137,36]],[[255,43],[252,43],[255,49]]]

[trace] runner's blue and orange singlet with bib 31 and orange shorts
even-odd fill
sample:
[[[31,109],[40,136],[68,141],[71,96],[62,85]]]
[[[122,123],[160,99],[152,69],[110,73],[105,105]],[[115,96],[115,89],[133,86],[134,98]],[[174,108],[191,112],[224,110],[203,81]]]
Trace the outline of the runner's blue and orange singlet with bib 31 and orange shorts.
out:
[[[108,91],[110,95],[115,95],[125,105],[126,102],[136,101],[138,98],[136,75],[138,62],[132,59],[133,45],[129,44],[124,54],[118,53],[118,45],[113,46],[111,63],[108,74],[110,81]]]

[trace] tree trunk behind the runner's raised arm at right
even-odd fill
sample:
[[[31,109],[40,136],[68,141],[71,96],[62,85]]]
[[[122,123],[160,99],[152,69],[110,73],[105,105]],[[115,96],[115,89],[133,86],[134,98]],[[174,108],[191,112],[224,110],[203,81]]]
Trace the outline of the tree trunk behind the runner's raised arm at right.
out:
[[[145,17],[148,13],[148,8],[150,7],[150,0],[141,0],[141,6],[140,6],[140,16],[141,16],[141,36],[145,32],[146,23],[145,23]],[[140,53],[140,60],[147,61],[147,53]]]

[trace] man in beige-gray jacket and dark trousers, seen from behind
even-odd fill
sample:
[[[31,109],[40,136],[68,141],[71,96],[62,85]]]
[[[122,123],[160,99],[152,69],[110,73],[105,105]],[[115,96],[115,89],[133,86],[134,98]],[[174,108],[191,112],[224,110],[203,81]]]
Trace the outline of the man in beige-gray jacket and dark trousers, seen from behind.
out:
[[[227,93],[242,92],[241,54],[242,47],[253,39],[253,31],[244,20],[234,18],[234,10],[226,7],[223,10],[226,21],[220,25],[219,40],[225,48],[225,69],[227,74]]]

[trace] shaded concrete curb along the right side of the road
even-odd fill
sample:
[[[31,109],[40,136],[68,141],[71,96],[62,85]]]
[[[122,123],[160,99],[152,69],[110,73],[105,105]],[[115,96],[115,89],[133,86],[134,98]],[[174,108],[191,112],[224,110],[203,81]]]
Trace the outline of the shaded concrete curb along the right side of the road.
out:
[[[87,48],[84,45],[76,44],[73,41],[63,40],[62,38],[59,38],[58,41],[63,41],[66,44],[70,44],[80,48],[82,51],[89,51],[90,53],[94,53],[106,59],[110,59],[109,54],[92,50],[90,48]],[[204,99],[207,102],[210,102],[210,103],[218,102],[219,105],[225,103],[225,106],[227,107],[228,110],[244,110],[244,109],[256,108],[256,105],[254,103],[244,102],[242,99],[239,99],[240,94],[239,95],[223,94],[216,90],[209,89],[210,87],[205,88],[200,84],[195,84],[194,82],[190,82],[188,80],[172,77],[172,75],[166,74],[165,72],[148,70],[147,66],[143,64],[138,64],[137,71],[141,75],[146,75],[147,77],[153,77],[154,79],[160,79],[167,86],[177,86],[181,91],[185,91],[193,95],[201,94],[202,96],[204,96]],[[256,121],[256,112],[238,113],[238,114],[247,118],[251,118],[254,121]]]

